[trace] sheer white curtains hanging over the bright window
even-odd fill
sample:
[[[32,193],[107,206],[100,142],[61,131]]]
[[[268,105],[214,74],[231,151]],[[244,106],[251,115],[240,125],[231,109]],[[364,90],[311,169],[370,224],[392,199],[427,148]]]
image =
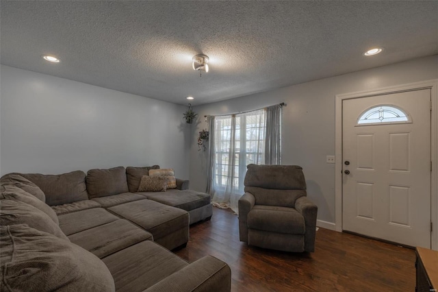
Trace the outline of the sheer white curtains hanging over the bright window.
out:
[[[278,108],[278,106],[277,106]],[[210,147],[207,193],[214,206],[231,208],[244,194],[246,165],[265,164],[268,141],[268,108],[242,114],[209,117]],[[270,128],[274,127],[272,122]],[[276,125],[280,125],[276,123]],[[270,136],[280,130],[270,131]],[[271,139],[270,139],[271,140]],[[276,141],[276,139],[274,139]],[[271,145],[272,142],[269,142]],[[280,155],[280,153],[278,153]],[[270,158],[269,158],[270,159]],[[279,163],[279,162],[277,162]]]

